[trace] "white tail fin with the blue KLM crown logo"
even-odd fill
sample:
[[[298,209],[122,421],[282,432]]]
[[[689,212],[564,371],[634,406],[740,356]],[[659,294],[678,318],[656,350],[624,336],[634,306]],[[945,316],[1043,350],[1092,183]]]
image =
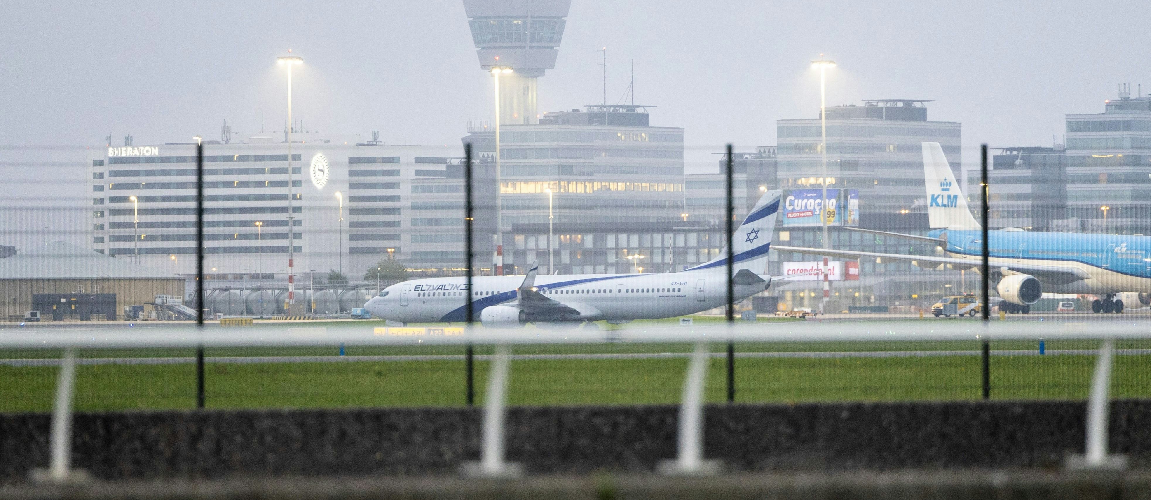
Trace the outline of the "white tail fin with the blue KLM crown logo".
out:
[[[971,210],[967,208],[967,197],[959,189],[959,182],[939,143],[923,143],[923,182],[928,194],[928,221],[933,229],[980,229]]]

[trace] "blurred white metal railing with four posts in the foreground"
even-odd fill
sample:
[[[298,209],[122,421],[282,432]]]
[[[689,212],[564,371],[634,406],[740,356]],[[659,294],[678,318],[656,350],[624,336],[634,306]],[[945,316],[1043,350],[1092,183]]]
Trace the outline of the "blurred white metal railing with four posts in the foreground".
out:
[[[1098,362],[1088,405],[1087,454],[1070,457],[1069,467],[1121,467],[1121,459],[1107,455],[1107,405],[1112,352],[1115,339],[1148,339],[1141,324],[1085,324],[1012,322],[991,324],[923,324],[922,322],[853,323],[760,323],[712,326],[632,328],[611,331],[542,331],[459,329],[458,334],[390,334],[389,330],[361,325],[284,329],[247,328],[77,328],[10,329],[0,336],[0,348],[63,348],[60,378],[53,409],[51,468],[45,480],[64,482],[70,471],[71,398],[75,377],[75,349],[81,347],[236,347],[236,346],[410,346],[410,345],[494,345],[482,420],[481,457],[463,471],[473,476],[513,477],[519,464],[505,460],[504,415],[510,357],[514,345],[597,344],[597,343],[693,343],[684,382],[679,411],[678,457],[661,463],[669,475],[714,474],[719,467],[703,460],[703,391],[710,343],[818,343],[818,341],[998,341],[998,340],[1100,340]]]

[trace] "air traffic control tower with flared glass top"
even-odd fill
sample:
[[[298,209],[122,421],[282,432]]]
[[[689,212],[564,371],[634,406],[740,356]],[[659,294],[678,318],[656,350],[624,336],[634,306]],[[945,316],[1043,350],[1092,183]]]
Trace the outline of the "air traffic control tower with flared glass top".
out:
[[[464,0],[480,67],[500,76],[500,123],[539,123],[535,79],[556,67],[571,0]]]

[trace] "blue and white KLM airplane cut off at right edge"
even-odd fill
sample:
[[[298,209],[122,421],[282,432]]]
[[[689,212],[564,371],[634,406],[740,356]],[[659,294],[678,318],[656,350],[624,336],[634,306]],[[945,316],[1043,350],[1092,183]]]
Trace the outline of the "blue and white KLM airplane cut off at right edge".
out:
[[[912,261],[925,268],[981,270],[983,230],[967,208],[967,198],[947,164],[939,143],[923,143],[923,176],[928,194],[928,236],[857,229],[857,231],[932,241],[947,256],[885,254],[823,248],[776,246],[798,252],[845,259]],[[1029,311],[1044,292],[1103,295],[1091,309],[1121,313],[1115,295],[1137,292],[1151,302],[1151,237],[1032,232],[1017,228],[989,231],[991,279],[996,291],[1014,311]]]

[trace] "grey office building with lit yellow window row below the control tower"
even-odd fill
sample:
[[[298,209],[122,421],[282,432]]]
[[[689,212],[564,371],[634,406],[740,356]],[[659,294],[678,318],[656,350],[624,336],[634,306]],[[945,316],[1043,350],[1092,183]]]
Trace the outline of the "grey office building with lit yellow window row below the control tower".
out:
[[[546,113],[538,124],[500,130],[503,228],[679,220],[684,129],[651,126],[645,106],[588,106]],[[494,132],[463,139],[490,161]]]

